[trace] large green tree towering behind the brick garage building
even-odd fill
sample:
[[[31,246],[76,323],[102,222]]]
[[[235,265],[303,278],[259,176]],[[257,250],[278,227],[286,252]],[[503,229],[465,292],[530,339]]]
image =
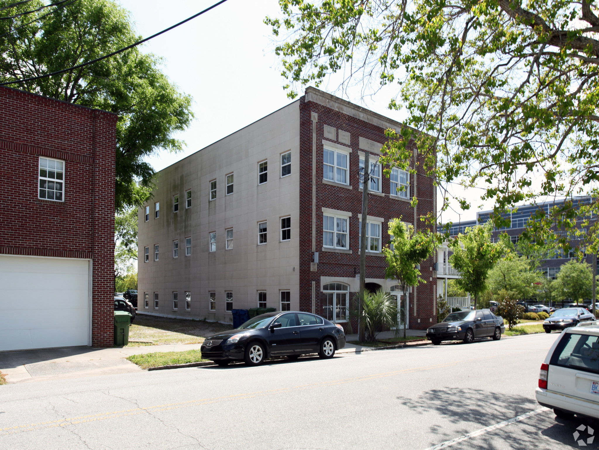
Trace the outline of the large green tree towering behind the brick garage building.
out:
[[[16,16],[50,2],[20,3],[0,0],[2,14]],[[7,8],[10,4],[16,5]],[[89,62],[139,39],[129,13],[113,0],[77,0],[0,20],[0,83]],[[134,47],[83,68],[10,85],[119,115],[117,209],[147,199],[154,171],[144,158],[160,149],[182,150],[184,143],[173,136],[193,118],[192,99],[168,80],[160,63],[158,57]]]

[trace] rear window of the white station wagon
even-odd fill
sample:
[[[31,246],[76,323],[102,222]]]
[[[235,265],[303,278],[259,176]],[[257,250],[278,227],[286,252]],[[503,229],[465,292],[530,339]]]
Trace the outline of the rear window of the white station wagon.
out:
[[[556,346],[550,364],[599,373],[599,336],[567,333]]]

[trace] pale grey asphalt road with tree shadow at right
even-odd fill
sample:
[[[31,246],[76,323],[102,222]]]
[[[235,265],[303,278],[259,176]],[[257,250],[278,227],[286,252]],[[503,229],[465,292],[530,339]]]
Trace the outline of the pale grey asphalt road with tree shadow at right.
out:
[[[4,385],[0,448],[577,448],[534,399],[557,337]]]

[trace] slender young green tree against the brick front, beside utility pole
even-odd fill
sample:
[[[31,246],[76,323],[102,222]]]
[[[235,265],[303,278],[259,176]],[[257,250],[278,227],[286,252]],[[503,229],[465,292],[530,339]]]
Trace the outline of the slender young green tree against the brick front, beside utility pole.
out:
[[[412,225],[407,225],[400,219],[389,221],[389,235],[393,236],[389,245],[383,248],[387,268],[387,278],[394,279],[404,293],[404,308],[399,306],[404,324],[404,338],[406,338],[406,312],[408,287],[416,286],[420,282],[420,263],[429,257],[437,245],[437,236],[431,232],[414,230]]]

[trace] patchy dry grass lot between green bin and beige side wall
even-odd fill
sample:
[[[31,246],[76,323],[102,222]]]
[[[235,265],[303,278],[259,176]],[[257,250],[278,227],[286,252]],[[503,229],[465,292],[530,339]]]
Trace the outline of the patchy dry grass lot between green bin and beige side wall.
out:
[[[169,319],[138,314],[129,327],[129,341],[151,340],[152,343],[129,342],[129,347],[162,345],[168,343],[201,343],[205,336],[232,329],[224,325],[202,320]]]

